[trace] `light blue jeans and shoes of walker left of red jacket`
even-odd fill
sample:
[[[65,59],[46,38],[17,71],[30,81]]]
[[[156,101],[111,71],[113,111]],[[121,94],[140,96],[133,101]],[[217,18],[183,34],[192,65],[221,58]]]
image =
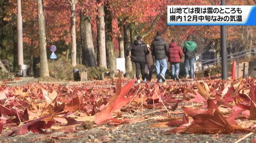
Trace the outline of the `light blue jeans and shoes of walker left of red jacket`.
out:
[[[162,60],[155,60],[155,70],[156,70],[156,77],[158,82],[162,82],[161,76],[165,76],[165,72],[167,70],[167,62],[166,59]]]

